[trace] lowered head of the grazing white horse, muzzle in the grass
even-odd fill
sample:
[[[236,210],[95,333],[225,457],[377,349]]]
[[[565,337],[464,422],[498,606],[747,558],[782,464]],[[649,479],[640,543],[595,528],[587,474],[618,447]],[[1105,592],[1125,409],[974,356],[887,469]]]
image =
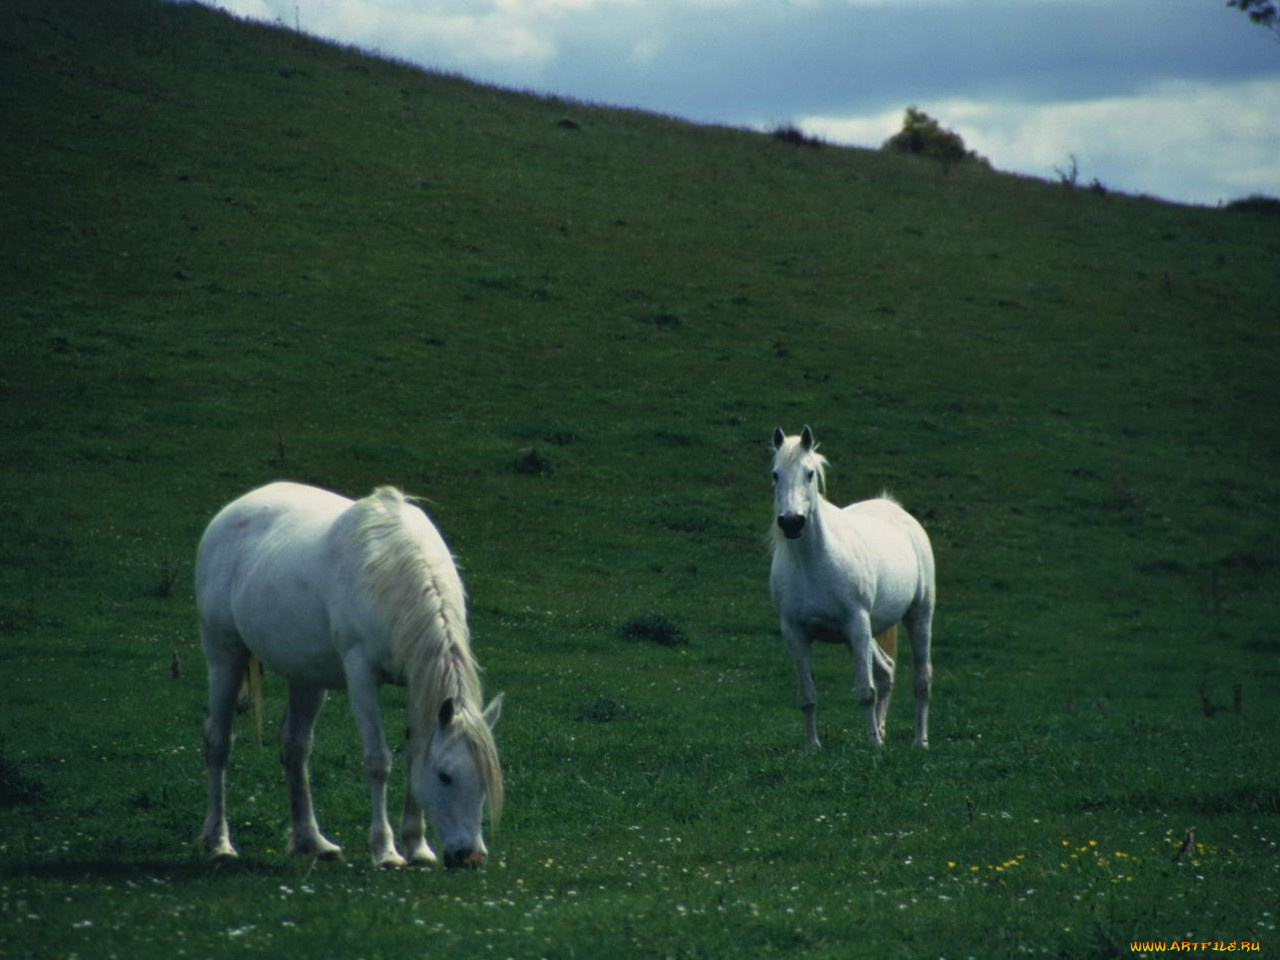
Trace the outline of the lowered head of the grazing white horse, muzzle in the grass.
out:
[[[493,726],[502,713],[502,695],[483,714],[445,700],[431,732],[426,755],[413,764],[411,788],[426,810],[444,850],[444,865],[479,867],[489,855],[481,820],[502,814],[502,768]]]

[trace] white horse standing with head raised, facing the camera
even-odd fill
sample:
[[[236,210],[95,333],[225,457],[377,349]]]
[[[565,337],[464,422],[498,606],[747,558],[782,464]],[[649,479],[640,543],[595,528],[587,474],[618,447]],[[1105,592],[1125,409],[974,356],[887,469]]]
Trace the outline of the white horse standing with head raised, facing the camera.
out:
[[[867,712],[872,746],[881,746],[900,622],[915,660],[915,745],[928,746],[934,576],[924,527],[891,499],[845,508],[827,500],[827,460],[808,426],[800,436],[774,430],[773,449],[777,525],[769,594],[795,663],[809,746],[819,745],[813,641],[845,644],[852,653],[854,694]]]

